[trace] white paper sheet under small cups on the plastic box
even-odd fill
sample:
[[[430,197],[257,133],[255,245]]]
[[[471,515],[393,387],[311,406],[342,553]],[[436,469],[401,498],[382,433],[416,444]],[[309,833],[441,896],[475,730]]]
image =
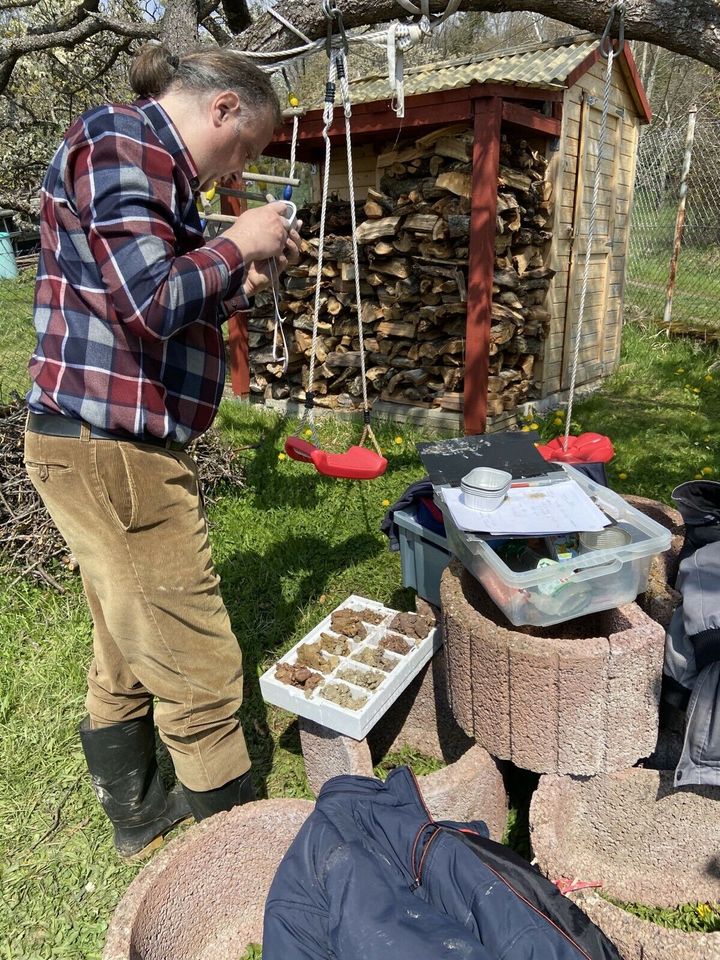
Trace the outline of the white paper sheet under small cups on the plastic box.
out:
[[[492,513],[468,507],[458,487],[443,487],[442,496],[458,529],[467,533],[549,536],[603,530],[611,522],[574,480],[511,487]]]

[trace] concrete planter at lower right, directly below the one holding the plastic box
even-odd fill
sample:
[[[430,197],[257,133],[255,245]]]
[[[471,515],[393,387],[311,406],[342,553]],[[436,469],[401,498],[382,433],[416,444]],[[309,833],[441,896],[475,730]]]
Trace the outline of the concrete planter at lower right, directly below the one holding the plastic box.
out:
[[[675,790],[668,771],[544,776],[530,807],[533,853],[551,880],[602,883],[626,903],[719,901],[718,801],[720,787]]]

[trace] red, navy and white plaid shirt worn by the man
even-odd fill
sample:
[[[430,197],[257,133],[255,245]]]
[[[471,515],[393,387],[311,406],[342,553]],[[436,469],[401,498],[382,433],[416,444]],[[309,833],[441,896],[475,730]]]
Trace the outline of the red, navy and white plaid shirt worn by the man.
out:
[[[222,321],[248,301],[238,248],[203,238],[198,187],[154,100],[70,127],[41,195],[32,411],[182,443],[210,426]]]

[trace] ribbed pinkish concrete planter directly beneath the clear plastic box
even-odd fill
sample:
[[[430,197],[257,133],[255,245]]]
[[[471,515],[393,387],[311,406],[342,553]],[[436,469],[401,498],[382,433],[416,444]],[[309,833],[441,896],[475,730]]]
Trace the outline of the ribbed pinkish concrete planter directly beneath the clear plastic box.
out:
[[[456,562],[440,593],[453,713],[492,756],[593,775],[652,753],[665,633],[637,604],[515,628]]]

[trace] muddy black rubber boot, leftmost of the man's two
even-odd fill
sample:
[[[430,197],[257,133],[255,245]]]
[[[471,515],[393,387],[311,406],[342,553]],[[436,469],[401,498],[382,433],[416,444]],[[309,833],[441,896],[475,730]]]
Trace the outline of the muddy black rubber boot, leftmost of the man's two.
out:
[[[191,816],[179,784],[167,793],[155,756],[152,717],[93,730],[80,724],[80,740],[93,789],[115,830],[115,849],[125,860],[162,844],[175,824]]]

